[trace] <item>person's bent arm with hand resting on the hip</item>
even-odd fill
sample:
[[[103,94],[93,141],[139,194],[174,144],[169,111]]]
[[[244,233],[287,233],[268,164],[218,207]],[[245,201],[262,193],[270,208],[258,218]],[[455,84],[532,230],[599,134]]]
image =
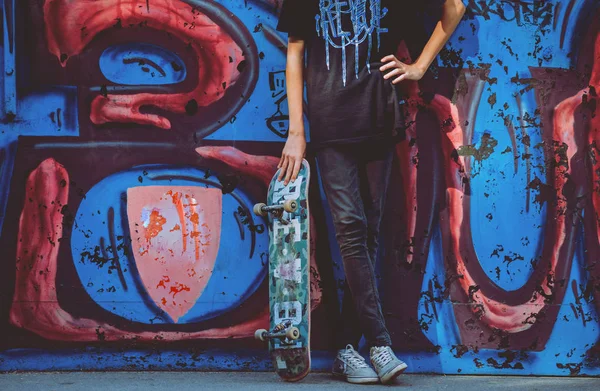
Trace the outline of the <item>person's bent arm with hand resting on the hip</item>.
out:
[[[384,72],[392,69],[384,75],[384,78],[390,79],[393,77],[392,83],[394,84],[400,83],[402,80],[421,80],[435,57],[456,30],[456,26],[458,26],[465,11],[466,8],[461,0],[446,0],[442,18],[435,26],[417,61],[414,64],[405,64],[398,60],[395,55],[384,57],[381,59],[384,65],[379,70]]]

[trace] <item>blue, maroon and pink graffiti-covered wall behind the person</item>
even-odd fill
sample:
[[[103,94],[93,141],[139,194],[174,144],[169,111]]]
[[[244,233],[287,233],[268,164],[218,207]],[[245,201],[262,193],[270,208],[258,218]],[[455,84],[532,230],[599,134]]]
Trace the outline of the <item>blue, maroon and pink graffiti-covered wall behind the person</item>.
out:
[[[0,370],[270,369],[251,209],[288,128],[280,3],[3,1]],[[394,349],[413,372],[600,375],[600,7],[466,3],[402,87]],[[325,201],[313,181],[317,370],[344,288]]]

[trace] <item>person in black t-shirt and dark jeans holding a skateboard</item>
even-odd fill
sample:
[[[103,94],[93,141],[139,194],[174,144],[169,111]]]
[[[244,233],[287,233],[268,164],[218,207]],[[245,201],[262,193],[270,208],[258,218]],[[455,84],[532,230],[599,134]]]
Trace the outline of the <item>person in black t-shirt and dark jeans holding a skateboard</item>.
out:
[[[403,63],[394,53],[425,12],[437,24],[417,60]],[[279,180],[295,180],[306,153],[306,82],[311,148],[347,282],[333,374],[351,383],[389,383],[407,368],[391,349],[374,270],[394,144],[405,138],[395,86],[423,77],[464,12],[461,0],[283,0],[290,127]],[[374,369],[354,348],[362,335]]]

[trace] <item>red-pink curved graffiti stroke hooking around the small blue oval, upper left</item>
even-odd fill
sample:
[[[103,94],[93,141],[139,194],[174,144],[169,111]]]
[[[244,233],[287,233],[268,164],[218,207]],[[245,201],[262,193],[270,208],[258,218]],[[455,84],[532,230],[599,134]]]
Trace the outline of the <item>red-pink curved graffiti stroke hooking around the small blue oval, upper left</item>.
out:
[[[242,50],[231,36],[196,8],[179,0],[46,0],[44,21],[48,49],[63,66],[102,31],[119,22],[128,28],[147,26],[167,31],[189,42],[199,62],[198,85],[175,94],[109,94],[92,101],[90,119],[100,125],[110,122],[137,123],[171,129],[170,121],[141,109],[153,106],[176,114],[186,106],[208,106],[221,99],[239,77]],[[126,33],[126,32],[124,32]]]

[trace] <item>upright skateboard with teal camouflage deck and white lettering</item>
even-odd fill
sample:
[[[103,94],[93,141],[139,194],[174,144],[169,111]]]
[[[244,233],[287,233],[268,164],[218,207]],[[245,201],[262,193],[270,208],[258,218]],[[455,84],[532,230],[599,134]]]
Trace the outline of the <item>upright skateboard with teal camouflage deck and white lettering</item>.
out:
[[[279,171],[269,185],[267,202],[254,213],[269,227],[269,330],[256,330],[267,342],[273,366],[286,381],[310,371],[310,167],[306,160],[298,178],[284,186]]]

